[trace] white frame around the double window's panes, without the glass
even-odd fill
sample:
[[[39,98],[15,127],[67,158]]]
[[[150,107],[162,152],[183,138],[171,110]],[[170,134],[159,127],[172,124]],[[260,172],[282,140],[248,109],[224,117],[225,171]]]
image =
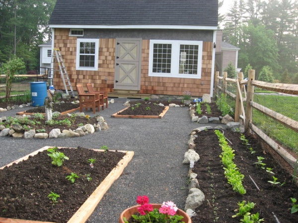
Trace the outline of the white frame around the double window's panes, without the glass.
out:
[[[156,73],[152,72],[153,64],[153,44],[171,44],[171,73]],[[180,45],[198,45],[198,68],[197,74],[182,74],[179,73],[179,58],[180,58]],[[149,76],[150,77],[178,77],[178,78],[194,78],[201,79],[202,76],[202,55],[203,55],[203,41],[184,41],[184,40],[150,40],[149,44]]]

